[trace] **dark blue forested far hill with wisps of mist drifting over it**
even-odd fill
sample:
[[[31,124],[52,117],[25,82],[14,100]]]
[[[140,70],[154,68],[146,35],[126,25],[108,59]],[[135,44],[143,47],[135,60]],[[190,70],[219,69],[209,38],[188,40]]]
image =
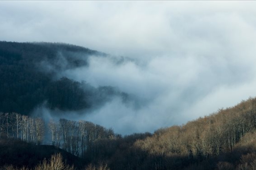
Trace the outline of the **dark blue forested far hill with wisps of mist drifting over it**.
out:
[[[0,41],[0,112],[28,115],[42,103],[51,109],[80,110],[101,105],[113,95],[126,98],[114,87],[95,88],[56,77],[60,71],[87,66],[91,55],[107,56],[69,44]]]

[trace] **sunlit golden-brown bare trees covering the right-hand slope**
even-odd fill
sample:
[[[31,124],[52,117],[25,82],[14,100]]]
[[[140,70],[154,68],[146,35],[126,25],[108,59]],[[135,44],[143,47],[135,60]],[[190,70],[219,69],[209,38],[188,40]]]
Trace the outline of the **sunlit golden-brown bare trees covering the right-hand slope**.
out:
[[[255,128],[256,98],[249,98],[234,107],[219,109],[217,113],[185,125],[159,129],[152,137],[137,140],[134,147],[151,155],[169,157],[175,160],[173,165],[176,167],[189,164],[191,167],[191,163],[233,152],[237,148],[256,151]],[[163,162],[159,164],[164,169]],[[253,161],[241,164],[241,167],[246,166],[252,167]],[[215,167],[234,169],[233,164],[225,161],[217,163]]]

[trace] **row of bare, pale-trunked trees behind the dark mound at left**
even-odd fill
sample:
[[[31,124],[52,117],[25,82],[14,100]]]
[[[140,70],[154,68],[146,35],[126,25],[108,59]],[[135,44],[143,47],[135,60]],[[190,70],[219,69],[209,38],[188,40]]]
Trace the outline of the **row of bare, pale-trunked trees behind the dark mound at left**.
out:
[[[45,131],[48,129],[48,131]],[[51,135],[51,139],[45,136]],[[85,151],[93,153],[93,143],[98,140],[120,137],[112,129],[88,121],[50,120],[45,124],[42,118],[31,118],[18,113],[0,113],[1,138],[16,138],[41,145],[51,141],[52,145],[62,148],[75,156],[84,157]]]

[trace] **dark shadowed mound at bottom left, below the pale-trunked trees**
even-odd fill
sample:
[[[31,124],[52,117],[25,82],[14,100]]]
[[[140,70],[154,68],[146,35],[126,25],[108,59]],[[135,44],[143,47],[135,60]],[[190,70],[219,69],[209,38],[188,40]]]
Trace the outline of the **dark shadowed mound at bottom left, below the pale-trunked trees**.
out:
[[[51,155],[60,153],[63,160],[70,166],[82,168],[82,159],[76,157],[55,146],[34,145],[16,139],[3,139],[0,141],[0,167],[4,165],[13,165],[22,168],[23,166],[33,168],[43,161],[51,158]]]

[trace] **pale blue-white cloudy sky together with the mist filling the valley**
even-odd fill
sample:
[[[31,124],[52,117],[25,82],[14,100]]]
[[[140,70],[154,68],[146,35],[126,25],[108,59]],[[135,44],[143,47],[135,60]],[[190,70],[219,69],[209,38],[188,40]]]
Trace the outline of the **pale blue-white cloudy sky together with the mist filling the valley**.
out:
[[[256,1],[0,1],[0,40],[62,42],[134,59],[60,73],[145,99],[83,119],[153,132],[256,96]],[[51,112],[51,111],[48,111]],[[77,118],[78,119],[78,118]]]

